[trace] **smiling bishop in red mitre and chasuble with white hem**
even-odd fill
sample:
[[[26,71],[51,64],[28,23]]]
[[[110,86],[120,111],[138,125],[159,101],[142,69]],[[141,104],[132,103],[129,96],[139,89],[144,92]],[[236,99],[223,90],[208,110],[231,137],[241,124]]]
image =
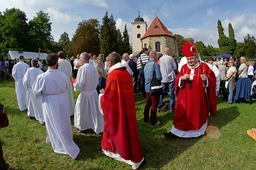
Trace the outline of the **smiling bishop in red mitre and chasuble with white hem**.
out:
[[[171,131],[164,133],[165,137],[198,137],[203,135],[207,128],[208,108],[203,87],[206,90],[210,105],[210,115],[217,112],[216,77],[213,71],[205,63],[201,63],[201,74],[197,56],[191,53],[192,43],[185,43],[182,53],[187,58],[187,64],[183,65],[180,73],[175,78],[175,95],[177,97],[174,108],[174,126]],[[196,47],[196,46],[195,46]]]

